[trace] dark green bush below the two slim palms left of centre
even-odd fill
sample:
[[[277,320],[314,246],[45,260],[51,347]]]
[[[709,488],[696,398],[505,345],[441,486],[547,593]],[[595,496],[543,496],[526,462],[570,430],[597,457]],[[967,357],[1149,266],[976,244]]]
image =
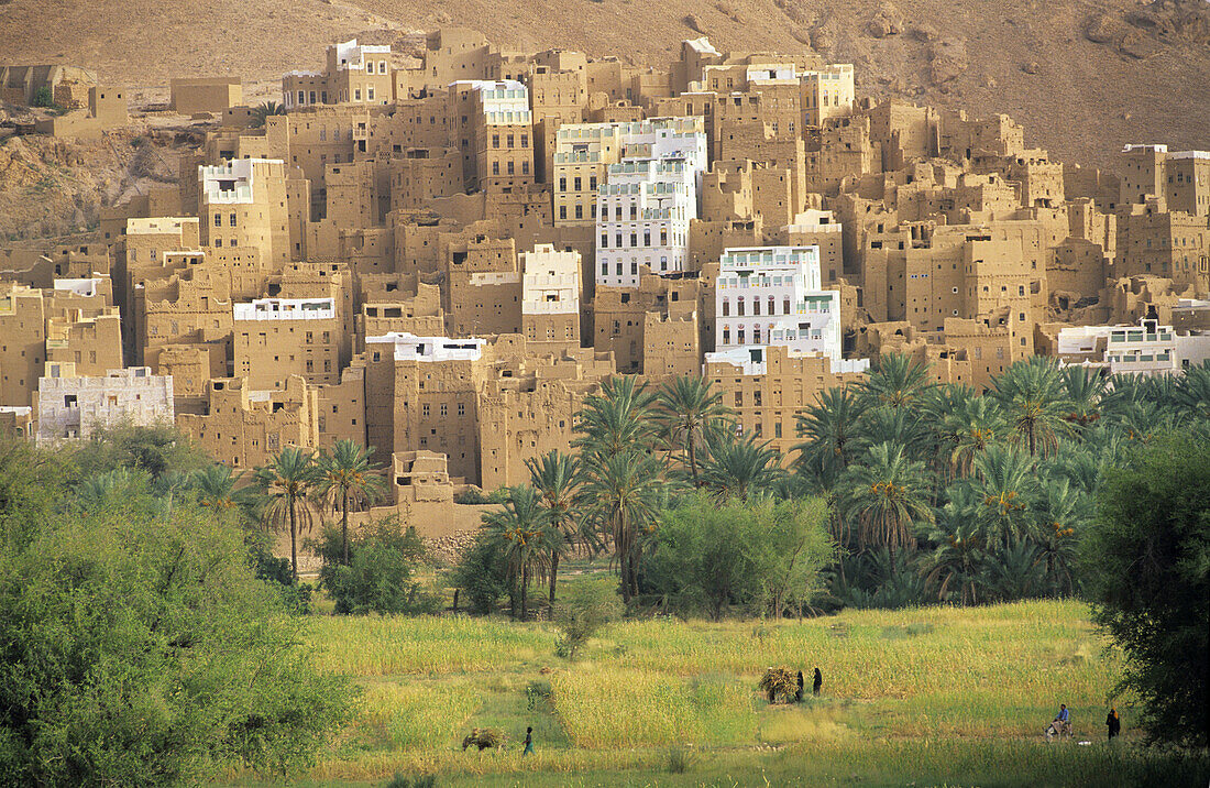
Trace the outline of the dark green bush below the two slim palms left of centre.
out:
[[[340,529],[328,527],[318,545],[319,582],[338,614],[424,614],[439,608],[436,597],[413,580],[425,559],[424,540],[414,528],[401,530],[392,518],[364,525],[348,542],[345,565]]]

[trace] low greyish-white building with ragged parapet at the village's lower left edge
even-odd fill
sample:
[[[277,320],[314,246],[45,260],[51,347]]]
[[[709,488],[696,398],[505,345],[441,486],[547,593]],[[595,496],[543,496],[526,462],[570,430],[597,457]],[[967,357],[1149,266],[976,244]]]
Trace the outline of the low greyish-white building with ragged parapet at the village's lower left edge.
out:
[[[46,364],[38,380],[38,443],[87,438],[119,424],[154,426],[175,416],[172,375],[149,367],[111,369],[102,376],[60,376],[70,366]]]

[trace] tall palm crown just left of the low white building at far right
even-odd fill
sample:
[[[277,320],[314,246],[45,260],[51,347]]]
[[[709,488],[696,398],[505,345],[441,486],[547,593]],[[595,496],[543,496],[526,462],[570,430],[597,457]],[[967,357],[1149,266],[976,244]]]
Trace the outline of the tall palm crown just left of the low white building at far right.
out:
[[[1018,443],[1031,455],[1043,455],[1059,445],[1059,436],[1068,435],[1066,421],[1071,403],[1062,372],[1053,358],[1031,356],[1019,361],[993,383],[992,396],[1004,405]]]

